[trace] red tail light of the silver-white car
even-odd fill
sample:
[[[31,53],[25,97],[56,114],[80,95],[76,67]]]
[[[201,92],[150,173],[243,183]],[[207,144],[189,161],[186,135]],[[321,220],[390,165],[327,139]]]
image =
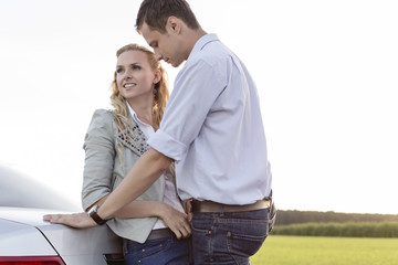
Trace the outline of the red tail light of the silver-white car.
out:
[[[0,256],[0,265],[65,265],[59,256]]]

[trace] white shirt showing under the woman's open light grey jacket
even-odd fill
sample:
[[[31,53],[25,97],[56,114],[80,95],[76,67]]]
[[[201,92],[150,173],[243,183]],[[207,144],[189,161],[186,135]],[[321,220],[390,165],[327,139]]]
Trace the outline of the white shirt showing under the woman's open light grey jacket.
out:
[[[137,123],[137,125],[139,126],[139,129],[145,134],[146,138],[149,139],[154,134],[155,130],[154,128],[142,121],[138,117],[137,114],[134,112],[134,109],[130,107],[129,104],[127,104],[128,106],[128,110],[130,112],[130,115],[133,117],[133,119]],[[165,195],[164,195],[164,202],[174,206],[175,209],[179,210],[180,212],[185,212],[184,208],[181,205],[181,201],[179,200],[178,195],[177,195],[177,189],[176,189],[176,184],[175,184],[175,179],[172,173],[167,170],[165,172]],[[165,224],[165,222],[161,219],[158,219],[154,225],[154,230],[157,229],[165,229],[167,227],[167,225]]]

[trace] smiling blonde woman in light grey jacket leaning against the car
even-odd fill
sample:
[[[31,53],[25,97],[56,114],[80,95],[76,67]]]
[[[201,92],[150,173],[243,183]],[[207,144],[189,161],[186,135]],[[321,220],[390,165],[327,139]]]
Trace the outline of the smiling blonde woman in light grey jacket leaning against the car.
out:
[[[153,52],[129,44],[116,55],[111,96],[114,109],[97,109],[85,137],[82,204],[86,211],[101,206],[147,150],[146,140],[159,128],[169,97],[167,74]],[[62,216],[45,215],[44,220],[64,223]],[[188,263],[188,240],[177,237],[188,236],[190,226],[176,193],[172,167],[107,225],[124,239],[126,264],[139,264],[144,258],[146,264]],[[157,255],[143,255],[155,245],[163,246]]]

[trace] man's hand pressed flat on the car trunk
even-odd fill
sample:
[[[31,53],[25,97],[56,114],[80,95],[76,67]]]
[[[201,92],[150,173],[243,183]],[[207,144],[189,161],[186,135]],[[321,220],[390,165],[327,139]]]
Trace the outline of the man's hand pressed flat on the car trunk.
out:
[[[71,214],[46,214],[43,216],[43,221],[49,221],[50,223],[54,224],[65,224],[75,229],[90,229],[97,225],[94,220],[87,215],[86,212]]]

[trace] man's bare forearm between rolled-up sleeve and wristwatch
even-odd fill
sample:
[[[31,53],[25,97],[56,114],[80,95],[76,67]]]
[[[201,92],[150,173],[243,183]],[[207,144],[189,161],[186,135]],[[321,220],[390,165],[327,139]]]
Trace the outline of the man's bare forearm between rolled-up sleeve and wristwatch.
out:
[[[137,199],[168,169],[171,159],[150,148],[128,171],[121,184],[106,198],[97,213],[109,219],[130,201]]]

